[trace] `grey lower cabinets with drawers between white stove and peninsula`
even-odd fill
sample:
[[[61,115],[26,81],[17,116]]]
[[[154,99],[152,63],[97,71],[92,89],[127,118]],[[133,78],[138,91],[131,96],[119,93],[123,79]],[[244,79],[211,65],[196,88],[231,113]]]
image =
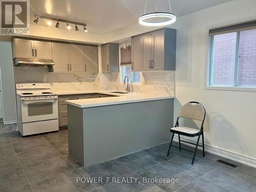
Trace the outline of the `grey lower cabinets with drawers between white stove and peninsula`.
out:
[[[58,96],[58,116],[59,116],[59,129],[67,129],[68,125],[68,104],[66,100],[73,99],[92,99],[101,97],[115,97],[114,95],[87,93],[87,94],[74,94],[74,95],[59,95]]]

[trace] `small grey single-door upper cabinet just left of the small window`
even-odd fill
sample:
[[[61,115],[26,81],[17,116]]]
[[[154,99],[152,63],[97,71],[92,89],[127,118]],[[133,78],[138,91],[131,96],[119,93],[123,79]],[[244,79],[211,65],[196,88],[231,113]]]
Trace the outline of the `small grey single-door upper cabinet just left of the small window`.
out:
[[[105,44],[101,46],[102,73],[119,72],[119,45]]]

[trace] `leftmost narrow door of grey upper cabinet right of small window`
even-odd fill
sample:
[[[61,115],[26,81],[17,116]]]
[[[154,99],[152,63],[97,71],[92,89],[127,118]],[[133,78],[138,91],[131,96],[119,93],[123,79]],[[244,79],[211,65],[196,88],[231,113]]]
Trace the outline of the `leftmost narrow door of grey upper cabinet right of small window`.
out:
[[[141,71],[141,38],[132,38],[132,71]]]

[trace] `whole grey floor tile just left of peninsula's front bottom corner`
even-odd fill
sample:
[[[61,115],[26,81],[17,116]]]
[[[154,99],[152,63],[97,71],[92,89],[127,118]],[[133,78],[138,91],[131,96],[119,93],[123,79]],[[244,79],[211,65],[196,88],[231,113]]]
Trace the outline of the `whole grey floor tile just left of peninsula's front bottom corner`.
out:
[[[74,170],[74,167],[62,156],[25,165],[23,168],[30,182],[47,179]]]

